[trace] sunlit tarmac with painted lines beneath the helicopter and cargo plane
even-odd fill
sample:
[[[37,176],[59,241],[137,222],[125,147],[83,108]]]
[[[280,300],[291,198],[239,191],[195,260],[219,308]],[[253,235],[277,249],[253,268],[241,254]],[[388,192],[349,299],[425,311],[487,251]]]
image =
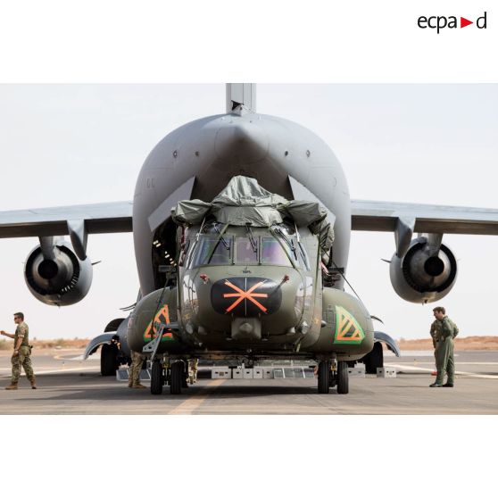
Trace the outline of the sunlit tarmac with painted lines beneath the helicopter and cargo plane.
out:
[[[434,381],[432,352],[387,356],[396,378],[351,377],[349,394],[318,394],[317,380],[200,379],[184,394],[162,395],[129,389],[126,382],[101,377],[98,357],[81,361],[80,350],[36,352],[33,366],[37,390],[21,377],[17,391],[10,384],[10,352],[0,352],[2,414],[496,414],[498,352],[460,352],[455,358],[455,387],[429,388]],[[148,383],[145,383],[148,386]]]

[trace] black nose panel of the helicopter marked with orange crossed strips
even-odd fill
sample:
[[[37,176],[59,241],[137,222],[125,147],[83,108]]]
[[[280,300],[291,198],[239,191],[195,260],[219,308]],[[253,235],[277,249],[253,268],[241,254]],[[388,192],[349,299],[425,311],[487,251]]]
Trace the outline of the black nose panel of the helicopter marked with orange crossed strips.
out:
[[[212,308],[220,314],[237,317],[270,315],[282,304],[280,287],[268,278],[224,278],[212,285]]]

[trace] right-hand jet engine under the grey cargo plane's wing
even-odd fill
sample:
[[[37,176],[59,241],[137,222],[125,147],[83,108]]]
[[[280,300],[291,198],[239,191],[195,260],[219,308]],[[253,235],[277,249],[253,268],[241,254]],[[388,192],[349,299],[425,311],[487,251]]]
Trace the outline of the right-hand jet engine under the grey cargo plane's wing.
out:
[[[447,295],[457,277],[452,251],[436,247],[427,237],[415,238],[403,258],[393,255],[389,268],[396,294],[411,303],[432,303]]]

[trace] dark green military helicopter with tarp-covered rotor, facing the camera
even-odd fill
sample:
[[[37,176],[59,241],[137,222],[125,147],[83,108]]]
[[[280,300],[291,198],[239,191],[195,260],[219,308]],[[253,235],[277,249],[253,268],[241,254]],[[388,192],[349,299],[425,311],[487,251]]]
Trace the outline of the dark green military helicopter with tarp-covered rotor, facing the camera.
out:
[[[334,230],[320,203],[236,176],[212,203],[180,202],[171,218],[178,264],[128,324],[129,347],[151,355],[153,394],[165,382],[180,394],[192,356],[318,360],[319,392],[348,392],[348,361],[371,351],[374,329],[358,299],[327,286]]]

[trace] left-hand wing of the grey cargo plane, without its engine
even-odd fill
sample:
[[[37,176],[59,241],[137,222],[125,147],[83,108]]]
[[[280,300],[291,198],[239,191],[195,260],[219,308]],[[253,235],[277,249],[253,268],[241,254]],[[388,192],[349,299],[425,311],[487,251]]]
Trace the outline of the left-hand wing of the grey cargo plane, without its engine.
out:
[[[0,238],[70,235],[84,226],[87,234],[131,232],[132,201],[82,204],[0,212]]]

